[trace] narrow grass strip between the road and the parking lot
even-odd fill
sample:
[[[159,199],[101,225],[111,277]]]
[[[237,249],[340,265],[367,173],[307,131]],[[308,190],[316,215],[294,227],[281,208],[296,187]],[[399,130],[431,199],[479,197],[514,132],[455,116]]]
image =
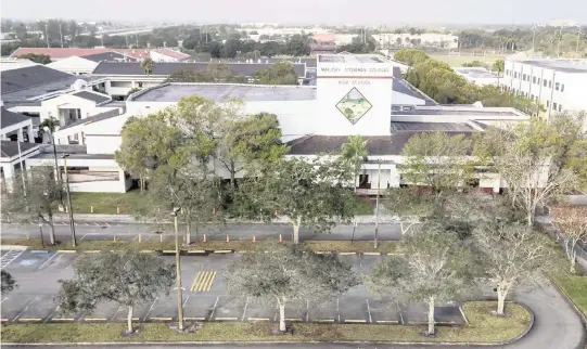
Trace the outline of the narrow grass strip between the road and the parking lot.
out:
[[[67,241],[55,245],[47,245],[43,248],[40,240],[26,240],[26,238],[2,238],[2,245],[18,245],[28,246],[30,249],[38,250],[117,250],[117,249],[139,249],[139,250],[175,250],[175,242],[173,241],[116,241],[112,240],[85,240],[77,244],[74,248]],[[250,251],[254,250],[259,243],[253,243],[251,241],[208,241],[206,243],[195,243],[190,246],[181,246],[182,250],[237,250],[237,251]],[[289,242],[284,244],[290,244]],[[373,248],[372,242],[349,242],[349,241],[307,241],[302,243],[303,246],[309,250],[315,251],[340,251],[340,253],[396,253],[396,242],[380,242],[378,248]]]

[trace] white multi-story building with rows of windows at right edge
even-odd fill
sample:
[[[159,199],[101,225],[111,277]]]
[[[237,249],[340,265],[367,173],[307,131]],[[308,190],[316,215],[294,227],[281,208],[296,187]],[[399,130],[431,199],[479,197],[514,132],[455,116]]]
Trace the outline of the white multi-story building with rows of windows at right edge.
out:
[[[587,109],[587,60],[507,60],[499,85],[538,102],[546,117]]]

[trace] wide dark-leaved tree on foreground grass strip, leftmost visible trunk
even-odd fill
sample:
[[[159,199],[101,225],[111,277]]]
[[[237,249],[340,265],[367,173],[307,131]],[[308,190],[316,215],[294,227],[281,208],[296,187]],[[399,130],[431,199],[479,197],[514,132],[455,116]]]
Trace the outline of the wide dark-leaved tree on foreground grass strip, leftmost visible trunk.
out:
[[[80,257],[74,279],[60,280],[58,296],[64,312],[92,312],[101,301],[128,307],[127,333],[132,333],[136,306],[153,301],[161,293],[169,295],[176,270],[163,258],[139,251],[102,251]]]

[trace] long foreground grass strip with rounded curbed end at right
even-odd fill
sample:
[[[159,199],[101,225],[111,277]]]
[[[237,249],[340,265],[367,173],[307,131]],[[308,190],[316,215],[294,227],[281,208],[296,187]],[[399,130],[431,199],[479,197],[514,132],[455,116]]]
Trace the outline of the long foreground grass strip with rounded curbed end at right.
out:
[[[3,342],[109,342],[109,341],[447,341],[496,342],[521,335],[528,326],[531,315],[521,306],[508,305],[510,316],[498,318],[488,313],[495,302],[473,301],[463,309],[470,321],[468,326],[437,327],[435,337],[422,336],[424,326],[404,325],[347,325],[294,323],[293,335],[271,335],[275,323],[204,323],[194,334],[178,334],[164,323],[138,324],[138,333],[123,337],[125,324],[9,324],[1,326]]]

